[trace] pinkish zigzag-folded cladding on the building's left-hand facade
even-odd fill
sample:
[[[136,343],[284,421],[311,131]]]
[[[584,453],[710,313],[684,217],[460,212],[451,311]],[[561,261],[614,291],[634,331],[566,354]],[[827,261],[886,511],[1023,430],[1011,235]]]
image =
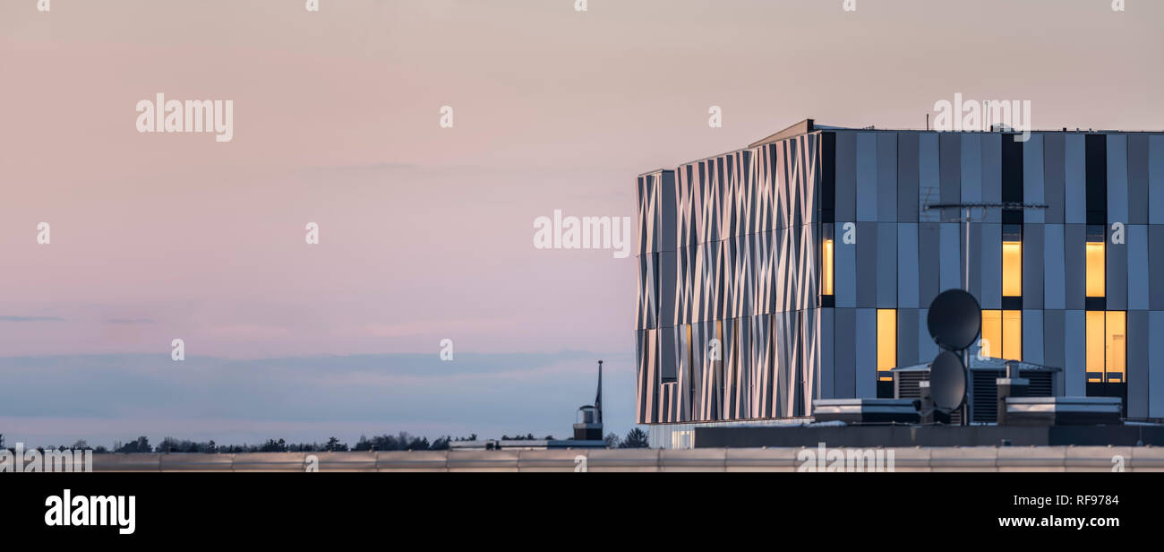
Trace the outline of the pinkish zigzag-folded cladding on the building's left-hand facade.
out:
[[[656,318],[665,349],[651,358],[650,335],[639,338],[639,423],[807,412],[821,363],[818,161],[819,135],[809,134],[681,165],[669,184],[667,171],[640,177],[640,226],[661,220],[652,207],[667,193],[652,185],[672,186],[674,225],[659,233],[675,243],[640,255],[675,262],[652,275],[655,264],[639,261],[639,333]],[[651,303],[652,283],[673,300]],[[668,356],[674,377],[660,363]]]

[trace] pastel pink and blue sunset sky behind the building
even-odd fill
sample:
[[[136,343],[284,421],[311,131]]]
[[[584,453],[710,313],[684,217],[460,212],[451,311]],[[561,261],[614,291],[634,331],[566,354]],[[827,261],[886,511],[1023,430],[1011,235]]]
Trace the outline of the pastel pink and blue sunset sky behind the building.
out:
[[[535,249],[538,217],[633,217],[639,172],[956,93],[1164,128],[1164,2],[842,3],[0,1],[0,433],[565,437],[604,359],[622,434],[636,261]],[[139,133],[159,92],[233,100],[233,140]]]

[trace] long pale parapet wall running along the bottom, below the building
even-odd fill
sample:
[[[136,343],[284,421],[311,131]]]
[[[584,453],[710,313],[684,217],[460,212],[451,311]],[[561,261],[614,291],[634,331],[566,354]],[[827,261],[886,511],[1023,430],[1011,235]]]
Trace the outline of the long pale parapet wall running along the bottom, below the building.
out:
[[[845,448],[838,448],[845,451]],[[1164,447],[908,447],[895,472],[1164,472]],[[419,451],[253,454],[95,454],[94,472],[797,472],[816,448]]]

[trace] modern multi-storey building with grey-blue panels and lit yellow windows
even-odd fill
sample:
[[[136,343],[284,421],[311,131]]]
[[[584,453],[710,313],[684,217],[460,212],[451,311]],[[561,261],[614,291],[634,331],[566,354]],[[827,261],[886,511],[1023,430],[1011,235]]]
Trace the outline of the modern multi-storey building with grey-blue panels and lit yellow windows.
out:
[[[639,176],[637,422],[890,397],[893,368],[937,354],[927,307],[967,268],[973,354],[1164,417],[1164,133],[1018,136],[810,119]],[[967,263],[963,213],[927,208],[954,203],[1045,208],[972,211]]]

